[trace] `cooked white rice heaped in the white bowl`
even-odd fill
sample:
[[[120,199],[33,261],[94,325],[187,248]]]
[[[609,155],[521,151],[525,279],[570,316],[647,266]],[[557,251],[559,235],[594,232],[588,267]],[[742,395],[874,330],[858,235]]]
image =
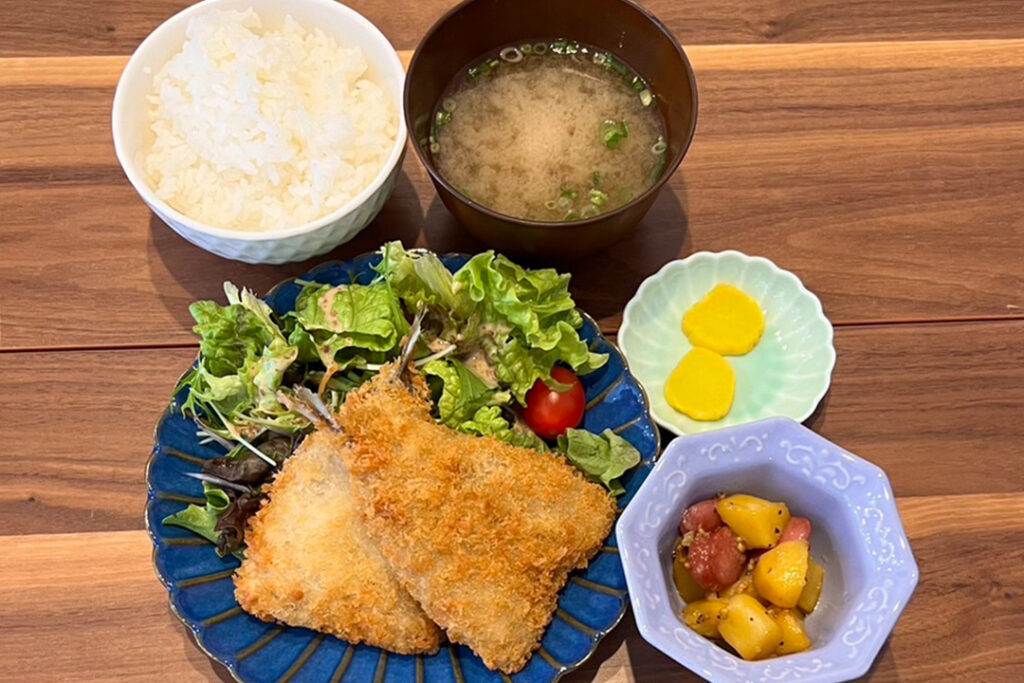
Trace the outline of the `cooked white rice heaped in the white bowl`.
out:
[[[365,189],[394,145],[393,103],[366,55],[251,8],[188,24],[154,77],[150,181],[184,215],[236,230],[293,227]]]

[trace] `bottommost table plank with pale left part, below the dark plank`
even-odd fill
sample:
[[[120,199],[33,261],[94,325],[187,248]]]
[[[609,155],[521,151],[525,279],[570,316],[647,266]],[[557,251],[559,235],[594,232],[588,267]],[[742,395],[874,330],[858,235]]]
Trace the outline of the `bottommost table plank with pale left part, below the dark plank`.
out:
[[[1013,680],[1024,666],[1024,650],[1015,644],[1024,630],[1024,495],[898,503],[922,582],[871,680]],[[1006,550],[990,555],[992,546]],[[991,560],[950,562],[951,547]],[[0,661],[8,665],[0,681],[141,682],[157,680],[157,671],[166,681],[230,680],[170,612],[144,531],[0,537]],[[696,680],[647,645],[632,618],[565,679]]]

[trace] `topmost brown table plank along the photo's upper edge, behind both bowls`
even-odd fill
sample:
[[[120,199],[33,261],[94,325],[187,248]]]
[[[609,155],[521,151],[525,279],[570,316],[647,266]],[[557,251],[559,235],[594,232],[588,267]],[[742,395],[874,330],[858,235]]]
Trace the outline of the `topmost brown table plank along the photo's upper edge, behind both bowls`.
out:
[[[0,0],[0,56],[128,54],[188,0]],[[455,3],[349,0],[396,49]],[[1019,0],[641,0],[683,45],[1024,38]]]

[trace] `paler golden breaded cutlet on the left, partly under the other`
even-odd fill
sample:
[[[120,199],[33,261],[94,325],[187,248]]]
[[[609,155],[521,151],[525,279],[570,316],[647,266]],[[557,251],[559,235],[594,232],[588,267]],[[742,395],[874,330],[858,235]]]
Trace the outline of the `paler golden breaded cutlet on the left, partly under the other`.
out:
[[[367,536],[339,455],[345,438],[310,434],[250,521],[234,595],[264,621],[393,652],[432,652],[440,631],[391,575]]]

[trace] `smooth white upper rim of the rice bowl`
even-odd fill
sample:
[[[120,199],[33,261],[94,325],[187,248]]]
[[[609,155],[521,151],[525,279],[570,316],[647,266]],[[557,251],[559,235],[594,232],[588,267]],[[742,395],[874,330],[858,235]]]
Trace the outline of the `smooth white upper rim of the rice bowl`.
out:
[[[406,70],[401,66],[401,60],[398,58],[398,53],[395,51],[394,46],[391,42],[381,33],[370,19],[355,11],[347,5],[343,5],[339,2],[334,2],[334,0],[289,0],[288,2],[283,2],[283,9],[287,10],[296,5],[307,4],[307,5],[319,5],[323,7],[329,7],[330,11],[336,11],[344,14],[346,20],[350,22],[352,25],[356,26],[360,31],[369,35],[373,40],[382,43],[387,46],[385,52],[387,56],[384,59],[384,63],[378,63],[376,59],[371,59],[367,55],[367,60],[374,67],[377,67],[385,75],[393,75],[395,77],[395,92],[388,92],[391,96],[392,105],[395,108],[394,113],[397,119],[397,131],[395,134],[394,143],[391,146],[391,152],[384,162],[384,165],[374,176],[374,179],[364,187],[358,194],[352,199],[346,202],[341,207],[335,209],[329,214],[321,216],[315,220],[307,221],[301,225],[295,227],[286,228],[275,228],[271,230],[236,230],[224,227],[216,227],[207,223],[200,222],[195,218],[190,218],[185,214],[181,213],[170,204],[165,202],[163,199],[157,196],[156,191],[150,184],[148,178],[145,174],[135,168],[135,164],[131,161],[132,152],[127,148],[127,142],[122,137],[121,130],[123,128],[123,114],[127,106],[130,106],[132,102],[126,101],[127,95],[124,92],[122,85],[125,80],[129,77],[133,77],[136,72],[141,71],[148,65],[142,63],[142,57],[140,55],[144,54],[147,49],[152,49],[155,45],[158,45],[164,38],[163,34],[167,33],[171,29],[177,27],[180,24],[186,24],[195,15],[201,14],[207,11],[213,11],[218,8],[221,4],[226,4],[230,0],[203,0],[198,2],[190,7],[182,9],[178,13],[174,14],[159,27],[153,30],[153,32],[145,37],[145,39],[139,43],[139,46],[135,48],[135,51],[129,57],[128,62],[125,65],[124,71],[121,72],[121,77],[118,79],[118,86],[114,92],[114,106],[111,115],[111,127],[114,136],[114,152],[118,158],[118,163],[121,164],[121,169],[124,171],[125,175],[128,176],[129,182],[135,187],[135,191],[139,194],[142,201],[147,205],[153,207],[157,213],[162,214],[161,217],[166,215],[168,218],[181,223],[183,226],[196,230],[197,232],[203,232],[217,238],[224,238],[228,240],[239,240],[244,242],[266,242],[271,240],[281,240],[283,238],[291,238],[299,234],[304,234],[307,232],[313,232],[322,227],[330,225],[343,218],[345,215],[357,210],[362,206],[368,200],[370,200],[384,184],[384,181],[388,178],[391,172],[394,170],[395,166],[401,160],[402,153],[406,150],[406,141],[408,138],[408,132],[406,128],[406,117],[402,114],[402,93],[404,91],[406,83]],[[255,9],[255,7],[254,7]],[[256,10],[259,13],[259,10]],[[294,18],[294,15],[293,15]],[[296,19],[298,20],[298,19]],[[311,30],[311,28],[303,24],[303,29]],[[332,40],[337,40],[337,38],[323,27],[312,27],[319,28],[324,33],[330,37]],[[157,69],[154,69],[156,74]],[[378,84],[379,85],[379,84]],[[383,86],[382,86],[382,89]],[[389,89],[388,89],[389,90]],[[388,90],[385,90],[386,92]]]

